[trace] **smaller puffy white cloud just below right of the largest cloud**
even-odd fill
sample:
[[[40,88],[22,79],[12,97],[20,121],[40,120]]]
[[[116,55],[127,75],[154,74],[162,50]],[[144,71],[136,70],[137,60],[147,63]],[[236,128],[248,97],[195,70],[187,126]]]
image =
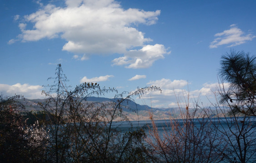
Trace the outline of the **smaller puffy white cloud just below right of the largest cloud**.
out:
[[[113,65],[128,65],[126,68],[148,68],[158,59],[163,59],[164,54],[169,54],[164,45],[145,45],[139,50],[130,50],[124,57],[115,58]]]

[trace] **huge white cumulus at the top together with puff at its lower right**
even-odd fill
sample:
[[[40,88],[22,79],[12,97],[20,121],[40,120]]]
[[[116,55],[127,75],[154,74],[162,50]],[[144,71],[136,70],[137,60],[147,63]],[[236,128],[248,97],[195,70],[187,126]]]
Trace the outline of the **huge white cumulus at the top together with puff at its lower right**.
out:
[[[113,62],[122,65],[117,61],[123,60],[127,68],[150,67],[167,53],[164,45],[146,45],[151,39],[136,29],[137,24],[156,24],[160,10],[124,10],[115,0],[65,0],[65,7],[37,2],[41,9],[25,15],[19,25],[23,42],[61,37],[67,41],[62,50],[86,54],[80,60],[91,54],[125,54]],[[33,29],[26,29],[26,23]]]

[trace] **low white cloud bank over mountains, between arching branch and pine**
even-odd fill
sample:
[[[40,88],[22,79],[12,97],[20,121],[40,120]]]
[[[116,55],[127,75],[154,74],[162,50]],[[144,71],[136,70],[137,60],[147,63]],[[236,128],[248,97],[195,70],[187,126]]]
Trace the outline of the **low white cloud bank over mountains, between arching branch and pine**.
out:
[[[223,83],[223,85],[219,85],[219,83],[204,83],[200,89],[191,89],[189,88],[189,92],[187,91],[188,82],[185,80],[170,80],[170,79],[161,79],[156,81],[151,81],[147,83],[148,86],[157,86],[161,88],[160,91],[150,91],[146,92],[142,98],[149,103],[154,103],[155,105],[165,104],[164,107],[174,107],[177,106],[177,101],[179,104],[185,106],[187,102],[187,96],[190,96],[189,103],[192,106],[194,100],[204,99],[204,102],[207,103],[208,100],[211,102],[216,102],[215,93],[217,93],[218,89],[228,89],[229,83]],[[218,95],[218,94],[217,94]],[[204,103],[204,105],[208,104]]]

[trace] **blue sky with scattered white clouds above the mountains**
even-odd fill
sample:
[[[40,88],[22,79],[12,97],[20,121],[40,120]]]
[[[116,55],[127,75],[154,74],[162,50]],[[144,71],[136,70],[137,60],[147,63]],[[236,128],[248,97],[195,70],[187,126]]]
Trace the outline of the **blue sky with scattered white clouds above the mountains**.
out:
[[[210,105],[221,56],[256,53],[255,8],[255,0],[1,0],[0,93],[44,98],[60,63],[73,88],[157,86],[134,99],[168,108],[189,92]]]

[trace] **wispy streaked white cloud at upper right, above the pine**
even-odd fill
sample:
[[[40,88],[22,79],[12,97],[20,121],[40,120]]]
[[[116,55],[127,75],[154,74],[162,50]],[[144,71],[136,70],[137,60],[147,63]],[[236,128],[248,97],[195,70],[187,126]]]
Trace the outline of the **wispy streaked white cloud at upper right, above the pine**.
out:
[[[244,34],[244,32],[237,28],[235,24],[230,25],[231,29],[224,30],[221,33],[217,33],[214,36],[217,37],[211,42],[210,48],[217,48],[220,45],[228,45],[233,47],[251,41],[256,36],[252,34]]]

